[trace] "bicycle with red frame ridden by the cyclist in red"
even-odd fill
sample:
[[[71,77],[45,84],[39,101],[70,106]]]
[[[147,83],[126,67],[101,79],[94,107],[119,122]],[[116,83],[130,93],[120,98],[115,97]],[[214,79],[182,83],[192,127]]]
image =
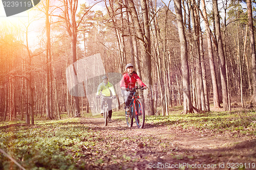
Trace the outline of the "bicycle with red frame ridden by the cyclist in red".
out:
[[[133,92],[133,98],[129,105],[129,111],[125,111],[125,119],[128,127],[133,126],[133,118],[135,118],[136,125],[142,129],[145,124],[144,103],[138,96],[138,89],[144,90],[144,87],[126,88],[126,91]]]

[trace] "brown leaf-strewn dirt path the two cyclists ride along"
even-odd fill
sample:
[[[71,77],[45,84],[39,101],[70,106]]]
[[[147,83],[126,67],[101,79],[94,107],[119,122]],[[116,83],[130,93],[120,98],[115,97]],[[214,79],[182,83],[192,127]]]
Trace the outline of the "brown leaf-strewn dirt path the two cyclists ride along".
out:
[[[101,151],[84,157],[91,169],[256,169],[255,138],[147,124],[127,128],[117,120],[104,127],[103,118],[81,122],[101,135],[87,152]]]

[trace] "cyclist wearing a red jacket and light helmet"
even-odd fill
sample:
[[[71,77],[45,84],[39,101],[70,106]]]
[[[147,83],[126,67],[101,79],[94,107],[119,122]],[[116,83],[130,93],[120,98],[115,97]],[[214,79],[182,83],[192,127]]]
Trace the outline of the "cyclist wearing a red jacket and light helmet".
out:
[[[126,71],[124,72],[123,78],[120,81],[122,94],[125,96],[125,111],[129,111],[128,107],[133,98],[133,92],[126,91],[126,88],[134,88],[136,82],[138,82],[141,87],[147,88],[147,86],[140,80],[137,73],[133,70],[133,64],[127,64]]]

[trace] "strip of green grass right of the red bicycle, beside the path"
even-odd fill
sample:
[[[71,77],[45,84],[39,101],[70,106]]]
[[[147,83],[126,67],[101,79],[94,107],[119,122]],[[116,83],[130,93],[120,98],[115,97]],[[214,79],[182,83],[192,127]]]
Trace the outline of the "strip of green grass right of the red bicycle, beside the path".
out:
[[[236,132],[256,135],[255,111],[207,112],[199,114],[172,113],[169,116],[148,116],[146,123],[152,126],[172,126],[184,129]]]

